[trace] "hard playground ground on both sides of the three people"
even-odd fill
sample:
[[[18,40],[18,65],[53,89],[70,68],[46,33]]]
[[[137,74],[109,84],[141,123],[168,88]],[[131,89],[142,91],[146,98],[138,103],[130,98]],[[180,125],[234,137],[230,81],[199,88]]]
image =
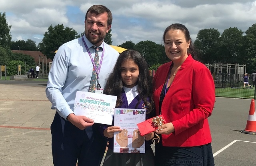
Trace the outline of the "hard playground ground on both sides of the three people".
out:
[[[46,83],[0,80],[0,166],[53,166],[50,125],[55,111],[45,95]],[[250,104],[216,98],[208,118],[216,166],[256,165],[256,135],[240,132]]]

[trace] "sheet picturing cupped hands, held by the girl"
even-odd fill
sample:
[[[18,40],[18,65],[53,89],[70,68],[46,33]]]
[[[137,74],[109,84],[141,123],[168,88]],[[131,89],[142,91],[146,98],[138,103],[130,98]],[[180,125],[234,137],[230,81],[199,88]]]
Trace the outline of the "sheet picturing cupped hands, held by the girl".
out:
[[[145,153],[145,138],[140,135],[137,126],[145,119],[145,109],[115,109],[114,126],[119,126],[122,131],[114,134],[114,152]]]

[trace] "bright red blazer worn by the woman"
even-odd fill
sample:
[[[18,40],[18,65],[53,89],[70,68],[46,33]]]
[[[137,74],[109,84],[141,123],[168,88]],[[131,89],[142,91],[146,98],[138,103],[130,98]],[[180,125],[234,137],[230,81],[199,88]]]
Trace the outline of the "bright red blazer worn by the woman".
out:
[[[159,98],[172,62],[163,64],[154,76],[153,99],[159,115]],[[212,141],[208,117],[215,102],[210,70],[191,55],[183,62],[164,97],[161,114],[175,131],[162,135],[163,146],[199,146]]]

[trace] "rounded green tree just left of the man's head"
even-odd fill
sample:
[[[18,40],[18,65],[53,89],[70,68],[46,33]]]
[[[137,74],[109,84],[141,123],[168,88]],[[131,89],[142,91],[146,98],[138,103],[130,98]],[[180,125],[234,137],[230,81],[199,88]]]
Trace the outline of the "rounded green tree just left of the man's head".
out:
[[[47,58],[53,59],[55,51],[64,43],[78,38],[78,33],[70,27],[64,28],[63,24],[50,25],[48,32],[44,33],[42,42],[38,44],[40,51]]]

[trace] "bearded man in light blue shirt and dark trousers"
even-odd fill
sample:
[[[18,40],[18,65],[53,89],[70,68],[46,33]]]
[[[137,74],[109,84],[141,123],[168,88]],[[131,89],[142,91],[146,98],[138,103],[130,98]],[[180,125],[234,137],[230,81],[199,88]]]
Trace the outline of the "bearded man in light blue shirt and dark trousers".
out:
[[[106,150],[107,139],[100,135],[99,124],[73,110],[76,91],[104,89],[119,56],[104,42],[112,13],[106,6],[93,5],[84,23],[85,35],[60,46],[48,76],[46,96],[56,109],[51,125],[54,166],[99,166]]]

